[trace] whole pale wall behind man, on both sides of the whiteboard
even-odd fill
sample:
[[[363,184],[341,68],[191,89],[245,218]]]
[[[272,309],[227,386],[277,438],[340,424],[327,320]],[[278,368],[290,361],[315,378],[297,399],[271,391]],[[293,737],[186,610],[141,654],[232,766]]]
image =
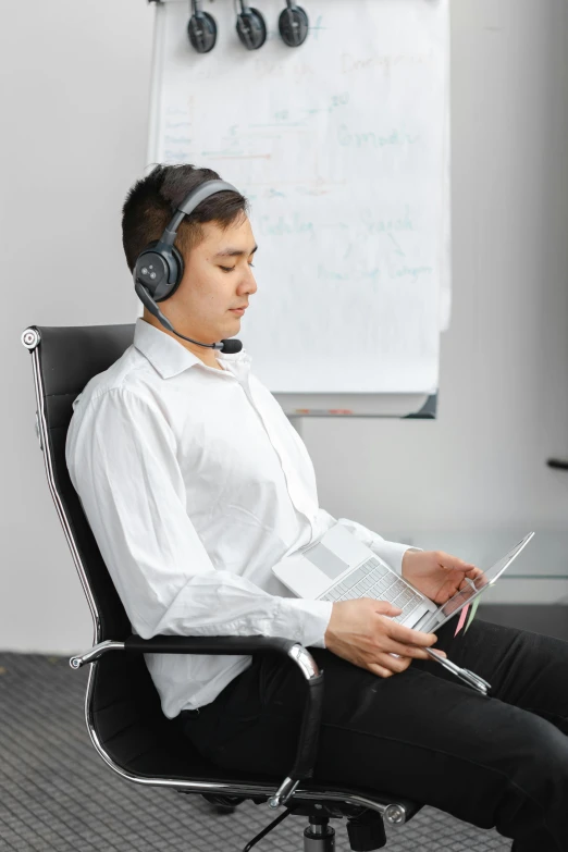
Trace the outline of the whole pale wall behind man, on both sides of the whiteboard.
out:
[[[454,305],[439,419],[314,419],[302,435],[332,514],[479,564],[535,529],[521,570],[568,575],[568,473],[545,466],[568,455],[568,7],[454,0],[452,12]],[[20,335],[138,313],[120,210],[146,164],[152,20],[144,0],[4,13],[0,649],[91,641]],[[518,600],[533,590],[518,584]],[[559,582],[543,594],[568,600]]]

